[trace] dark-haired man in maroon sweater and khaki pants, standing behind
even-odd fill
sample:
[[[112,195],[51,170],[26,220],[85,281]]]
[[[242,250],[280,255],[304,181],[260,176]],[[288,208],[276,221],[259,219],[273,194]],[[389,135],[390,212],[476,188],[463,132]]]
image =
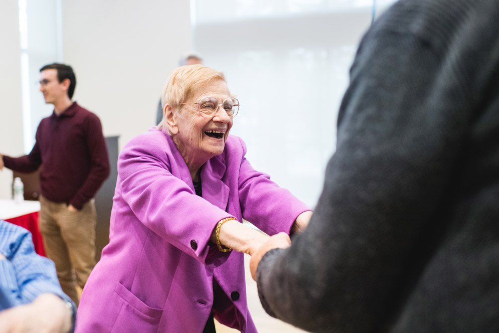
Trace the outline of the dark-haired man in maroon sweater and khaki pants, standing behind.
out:
[[[109,176],[109,157],[99,118],[72,102],[73,69],[50,64],[40,69],[40,91],[54,112],[42,119],[28,155],[0,154],[0,170],[40,171],[40,230],[56,264],[64,292],[78,304],[76,284],[85,285],[95,266],[96,213],[93,197]]]

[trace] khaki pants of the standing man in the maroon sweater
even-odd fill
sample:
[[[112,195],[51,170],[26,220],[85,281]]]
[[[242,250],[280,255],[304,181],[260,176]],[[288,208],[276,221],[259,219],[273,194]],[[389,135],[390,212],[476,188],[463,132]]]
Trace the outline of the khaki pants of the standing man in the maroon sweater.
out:
[[[83,289],[95,266],[95,201],[90,200],[78,212],[43,197],[40,206],[45,251],[56,265],[62,290],[78,305],[76,285]]]

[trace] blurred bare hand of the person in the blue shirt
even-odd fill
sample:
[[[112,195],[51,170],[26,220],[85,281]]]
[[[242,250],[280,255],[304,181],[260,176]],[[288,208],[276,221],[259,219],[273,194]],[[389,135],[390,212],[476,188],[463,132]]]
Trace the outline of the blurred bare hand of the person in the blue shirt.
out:
[[[49,293],[29,304],[0,311],[0,333],[66,333],[71,325],[66,302]]]

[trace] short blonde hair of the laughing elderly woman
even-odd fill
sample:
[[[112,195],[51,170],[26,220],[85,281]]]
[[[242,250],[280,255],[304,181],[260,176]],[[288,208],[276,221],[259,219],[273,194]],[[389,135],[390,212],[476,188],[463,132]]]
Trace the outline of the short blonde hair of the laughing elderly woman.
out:
[[[168,77],[167,82],[164,83],[161,94],[163,119],[159,123],[158,129],[168,131],[167,120],[164,116],[164,108],[167,105],[178,109],[181,103],[192,97],[198,84],[213,80],[225,81],[224,73],[201,64],[180,66],[174,69]]]

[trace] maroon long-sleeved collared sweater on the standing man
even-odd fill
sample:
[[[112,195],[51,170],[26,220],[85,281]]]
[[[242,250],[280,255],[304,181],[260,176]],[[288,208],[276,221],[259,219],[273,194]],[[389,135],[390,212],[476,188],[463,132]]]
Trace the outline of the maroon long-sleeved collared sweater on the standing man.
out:
[[[81,209],[109,177],[109,157],[99,118],[76,102],[61,115],[52,113],[38,125],[28,155],[4,156],[11,170],[40,172],[42,195],[50,201]]]

